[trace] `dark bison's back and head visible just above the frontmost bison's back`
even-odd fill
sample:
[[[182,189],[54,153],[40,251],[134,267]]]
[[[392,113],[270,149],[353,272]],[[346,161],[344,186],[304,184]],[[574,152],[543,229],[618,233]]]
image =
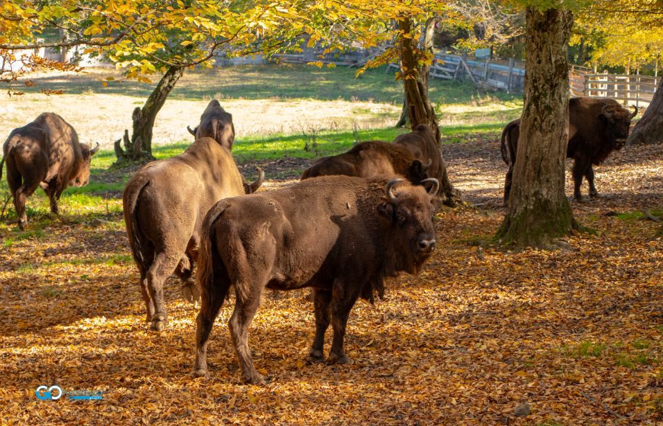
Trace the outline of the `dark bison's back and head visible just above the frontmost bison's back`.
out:
[[[412,184],[428,177],[431,160],[424,164],[404,146],[382,141],[357,143],[348,152],[324,157],[304,170],[302,180],[309,177],[345,175],[376,177],[402,175]]]

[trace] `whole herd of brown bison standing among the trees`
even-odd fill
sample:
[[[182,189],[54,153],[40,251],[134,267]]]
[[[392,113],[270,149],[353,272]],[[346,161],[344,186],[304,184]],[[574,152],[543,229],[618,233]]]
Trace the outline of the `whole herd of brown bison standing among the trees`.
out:
[[[636,112],[637,113],[637,110]],[[592,165],[619,150],[635,113],[614,100],[573,98],[569,104],[567,156],[574,159],[574,196],[583,176],[596,196]],[[175,274],[189,301],[200,299],[193,375],[207,376],[207,341],[230,289],[235,304],[229,327],[243,380],[261,383],[248,346],[248,328],[265,288],[311,287],[316,332],[309,362],[325,360],[325,331],[334,331],[327,362],[348,361],[345,327],[360,297],[384,294],[384,278],[417,274],[436,247],[433,218],[445,172],[440,148],[427,125],[393,143],[368,141],[343,154],[319,159],[286,188],[254,194],[264,181],[243,178],[230,153],[232,116],[212,100],[189,132],[196,137],[182,154],[153,161],[126,184],[123,213],[138,267],[146,321],[164,330],[168,314],[164,281]],[[508,199],[516,161],[519,121],[501,135],[509,166]],[[60,116],[41,114],[11,132],[3,145],[18,224],[27,224],[26,198],[42,186],[58,213],[67,185],[89,181],[98,150],[78,142]],[[197,282],[193,281],[198,265]]]

